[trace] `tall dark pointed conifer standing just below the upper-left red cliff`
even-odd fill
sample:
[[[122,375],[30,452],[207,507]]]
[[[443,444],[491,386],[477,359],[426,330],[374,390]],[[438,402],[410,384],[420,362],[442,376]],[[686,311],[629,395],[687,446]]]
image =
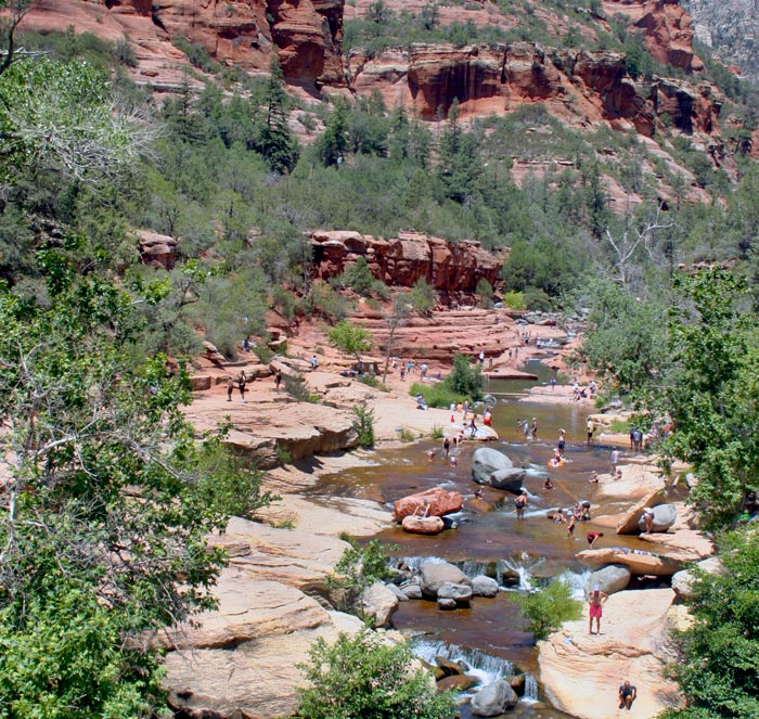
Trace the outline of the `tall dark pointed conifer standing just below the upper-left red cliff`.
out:
[[[299,152],[297,140],[287,126],[287,93],[276,53],[271,55],[263,102],[266,110],[253,146],[266,157],[272,170],[290,172],[295,167]]]

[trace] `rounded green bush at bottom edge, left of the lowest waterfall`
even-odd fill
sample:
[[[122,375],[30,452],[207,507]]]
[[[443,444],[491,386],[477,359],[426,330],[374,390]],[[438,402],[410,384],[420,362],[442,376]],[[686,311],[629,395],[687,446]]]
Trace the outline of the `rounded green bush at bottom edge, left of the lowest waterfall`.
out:
[[[452,719],[452,693],[438,693],[429,672],[414,668],[406,644],[389,644],[376,633],[340,633],[334,644],[319,638],[304,667],[298,716],[304,719]]]

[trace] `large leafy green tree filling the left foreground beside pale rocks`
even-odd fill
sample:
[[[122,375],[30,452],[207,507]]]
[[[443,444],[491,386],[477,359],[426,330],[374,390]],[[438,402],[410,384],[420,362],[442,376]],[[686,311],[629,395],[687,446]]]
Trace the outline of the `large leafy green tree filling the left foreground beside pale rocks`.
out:
[[[201,489],[185,371],[126,359],[139,298],[61,253],[43,271],[44,304],[0,293],[0,717],[147,716],[145,632],[213,606],[224,502],[213,473]]]

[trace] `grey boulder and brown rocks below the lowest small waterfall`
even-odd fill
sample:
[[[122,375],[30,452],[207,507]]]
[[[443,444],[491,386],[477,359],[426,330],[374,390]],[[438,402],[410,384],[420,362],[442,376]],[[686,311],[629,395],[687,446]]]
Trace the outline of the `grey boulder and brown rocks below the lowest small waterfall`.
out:
[[[440,690],[467,692],[480,683],[478,677],[467,673],[468,667],[463,660],[454,662],[436,656],[435,664],[424,664],[433,672]],[[472,715],[475,717],[498,717],[504,711],[513,709],[524,694],[525,675],[496,679],[474,694],[471,702]]]

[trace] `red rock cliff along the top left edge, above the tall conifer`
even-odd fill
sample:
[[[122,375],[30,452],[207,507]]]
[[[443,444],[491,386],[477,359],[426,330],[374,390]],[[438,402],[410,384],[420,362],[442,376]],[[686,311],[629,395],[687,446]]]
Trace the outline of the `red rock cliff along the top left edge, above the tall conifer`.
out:
[[[186,59],[171,44],[183,37],[211,57],[267,70],[278,49],[285,77],[306,86],[345,85],[342,39],[345,0],[34,0],[24,26],[73,27],[133,44],[138,75],[155,84],[182,80]]]

